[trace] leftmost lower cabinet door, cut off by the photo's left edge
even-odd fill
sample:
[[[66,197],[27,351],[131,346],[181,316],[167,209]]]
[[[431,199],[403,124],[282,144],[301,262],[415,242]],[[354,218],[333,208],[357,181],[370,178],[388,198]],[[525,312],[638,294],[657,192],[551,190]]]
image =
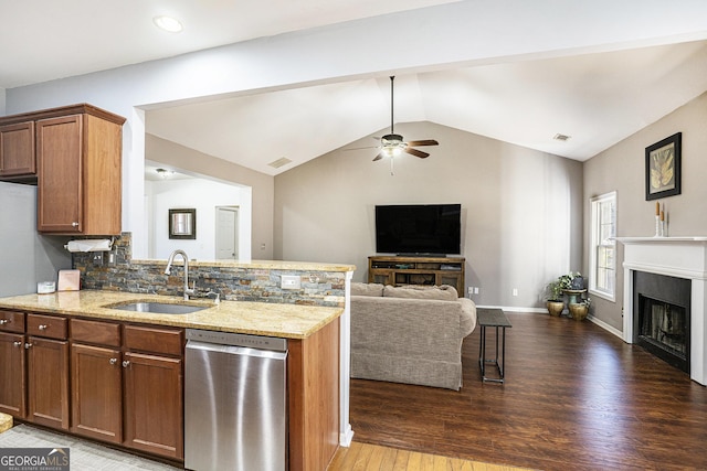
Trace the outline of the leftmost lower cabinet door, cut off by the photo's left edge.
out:
[[[24,418],[24,335],[0,332],[0,413]]]

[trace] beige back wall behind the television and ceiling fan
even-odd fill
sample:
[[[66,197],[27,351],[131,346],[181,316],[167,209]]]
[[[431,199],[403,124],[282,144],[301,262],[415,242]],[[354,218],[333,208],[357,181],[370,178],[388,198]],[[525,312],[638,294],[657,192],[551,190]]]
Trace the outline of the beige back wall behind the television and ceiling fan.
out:
[[[362,281],[376,255],[377,204],[461,203],[466,286],[481,287],[477,303],[540,308],[548,281],[581,269],[580,162],[430,122],[395,131],[440,146],[425,148],[426,159],[404,154],[394,175],[370,149],[330,152],[275,176],[277,258],[354,264]]]

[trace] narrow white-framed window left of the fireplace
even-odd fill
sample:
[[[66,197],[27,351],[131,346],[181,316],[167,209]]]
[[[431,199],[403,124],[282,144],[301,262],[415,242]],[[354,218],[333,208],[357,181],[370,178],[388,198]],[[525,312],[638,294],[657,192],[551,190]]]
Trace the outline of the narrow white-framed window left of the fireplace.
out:
[[[614,300],[616,285],[616,192],[591,199],[589,290]]]

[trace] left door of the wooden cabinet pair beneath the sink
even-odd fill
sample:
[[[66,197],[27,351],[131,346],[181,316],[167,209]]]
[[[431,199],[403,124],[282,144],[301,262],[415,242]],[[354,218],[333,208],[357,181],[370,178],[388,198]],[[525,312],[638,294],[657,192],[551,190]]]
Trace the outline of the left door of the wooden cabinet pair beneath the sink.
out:
[[[72,344],[73,432],[123,441],[122,370],[119,350]]]

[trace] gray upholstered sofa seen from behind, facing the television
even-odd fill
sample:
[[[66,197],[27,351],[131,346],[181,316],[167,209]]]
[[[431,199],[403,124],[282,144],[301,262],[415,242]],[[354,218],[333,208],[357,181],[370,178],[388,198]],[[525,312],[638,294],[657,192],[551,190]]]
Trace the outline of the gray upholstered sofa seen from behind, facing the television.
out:
[[[458,390],[476,306],[456,289],[351,283],[351,377]]]

